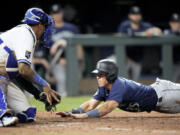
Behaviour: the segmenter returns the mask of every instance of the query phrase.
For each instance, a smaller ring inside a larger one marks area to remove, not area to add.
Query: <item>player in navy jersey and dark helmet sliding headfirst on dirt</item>
[[[62,117],[93,118],[104,116],[115,108],[129,112],[180,113],[180,84],[157,79],[146,86],[118,77],[118,67],[111,60],[97,63],[98,90],[93,98],[72,111],[59,112]],[[98,106],[102,101],[103,105]],[[98,107],[97,107],[98,106]]]

